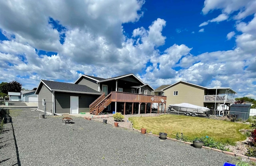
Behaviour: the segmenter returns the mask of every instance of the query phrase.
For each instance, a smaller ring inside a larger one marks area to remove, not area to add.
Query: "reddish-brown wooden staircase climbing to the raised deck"
[[[112,92],[105,97],[105,93],[103,93],[92,104],[90,104],[90,114],[98,115],[102,112],[111,103],[111,94]]]

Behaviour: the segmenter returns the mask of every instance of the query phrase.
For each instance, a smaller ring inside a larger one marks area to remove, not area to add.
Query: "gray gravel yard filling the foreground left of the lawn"
[[[0,165],[12,166],[222,166],[233,156],[115,128],[81,117],[12,118],[0,135]]]

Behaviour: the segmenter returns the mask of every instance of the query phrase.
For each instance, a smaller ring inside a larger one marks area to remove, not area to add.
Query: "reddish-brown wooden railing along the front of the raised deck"
[[[161,103],[161,98],[166,100],[166,96],[152,96],[144,94],[132,94],[126,92],[112,92],[112,102],[143,102]]]

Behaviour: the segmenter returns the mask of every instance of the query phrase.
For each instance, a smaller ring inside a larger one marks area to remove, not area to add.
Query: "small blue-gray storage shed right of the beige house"
[[[229,115],[237,117],[237,119],[241,118],[242,120],[247,120],[250,115],[250,104],[232,104],[230,106]]]

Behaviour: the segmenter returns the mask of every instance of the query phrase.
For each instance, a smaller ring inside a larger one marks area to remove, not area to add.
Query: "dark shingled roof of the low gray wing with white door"
[[[56,81],[48,81],[48,80],[42,80],[42,82],[44,82],[52,90],[66,90],[66,91],[89,92],[89,93],[100,94],[100,92],[86,85],[70,84],[65,82],[56,82]]]

